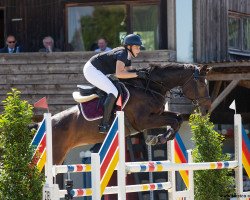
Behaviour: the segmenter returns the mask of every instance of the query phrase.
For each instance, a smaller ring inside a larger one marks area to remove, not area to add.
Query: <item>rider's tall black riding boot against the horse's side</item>
[[[103,104],[103,107],[104,107],[103,118],[102,118],[101,124],[99,125],[100,133],[106,133],[109,130],[109,118],[112,114],[115,101],[116,101],[116,98],[113,94],[110,93],[107,95],[107,98]]]

